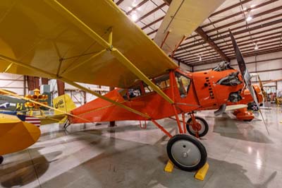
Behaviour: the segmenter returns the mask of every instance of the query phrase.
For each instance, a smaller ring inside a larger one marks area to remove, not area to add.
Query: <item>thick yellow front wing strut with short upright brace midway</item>
[[[56,11],[61,13],[63,16],[65,16],[68,20],[70,20],[73,24],[75,24],[80,30],[82,30],[84,33],[92,37],[93,40],[97,41],[99,45],[102,45],[107,51],[111,52],[118,61],[120,61],[124,66],[126,66],[133,74],[135,74],[138,78],[140,78],[142,81],[147,83],[148,86],[151,86],[154,91],[156,91],[159,95],[161,95],[162,98],[164,98],[169,103],[173,104],[173,100],[168,97],[158,86],[156,86],[152,81],[145,76],[145,74],[142,73],[137,67],[130,62],[129,59],[127,59],[118,49],[116,49],[111,41],[112,41],[112,35],[113,31],[111,29],[111,33],[109,36],[109,42],[104,40],[102,37],[100,37],[97,33],[94,32],[88,25],[82,22],[77,16],[75,16],[71,11],[68,10],[68,8],[64,7],[62,4],[60,4],[56,0],[45,0],[49,6],[54,8]]]

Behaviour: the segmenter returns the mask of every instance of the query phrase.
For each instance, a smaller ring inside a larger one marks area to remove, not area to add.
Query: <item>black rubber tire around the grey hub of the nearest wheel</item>
[[[200,159],[200,162],[195,166],[187,167],[185,165],[181,165],[180,163],[178,163],[178,161],[176,161],[173,158],[173,155],[171,153],[171,148],[173,146],[173,143],[179,140],[183,140],[183,139],[193,143],[200,151],[201,159]],[[199,140],[197,140],[195,137],[189,136],[187,134],[176,134],[175,136],[171,137],[171,139],[169,139],[166,145],[166,152],[168,153],[168,158],[171,160],[171,162],[174,165],[180,168],[180,170],[185,170],[188,172],[199,170],[207,162],[207,151],[206,151],[206,148],[204,148],[204,145],[202,145],[202,143]]]

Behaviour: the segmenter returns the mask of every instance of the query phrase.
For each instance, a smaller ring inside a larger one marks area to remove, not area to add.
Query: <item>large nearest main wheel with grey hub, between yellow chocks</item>
[[[207,162],[207,151],[193,136],[177,134],[169,139],[166,146],[168,158],[181,170],[199,170]]]

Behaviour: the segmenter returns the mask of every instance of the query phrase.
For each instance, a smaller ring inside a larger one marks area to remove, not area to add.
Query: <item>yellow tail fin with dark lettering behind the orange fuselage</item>
[[[61,110],[63,112],[70,112],[71,110],[75,109],[75,102],[71,100],[70,95],[65,94],[61,95],[58,98],[53,99],[54,108]],[[55,114],[63,114],[61,112],[55,111]]]

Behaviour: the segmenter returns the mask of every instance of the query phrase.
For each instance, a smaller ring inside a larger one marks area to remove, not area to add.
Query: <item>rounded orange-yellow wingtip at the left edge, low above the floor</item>
[[[22,122],[13,115],[0,114],[0,127],[0,155],[31,146],[41,134],[34,124]]]

